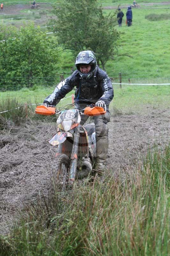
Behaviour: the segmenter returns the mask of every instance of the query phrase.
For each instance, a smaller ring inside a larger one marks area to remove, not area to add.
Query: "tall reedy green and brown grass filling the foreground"
[[[144,156],[134,177],[108,177],[43,199],[0,237],[1,256],[168,256],[170,145]],[[142,165],[141,165],[142,166]]]

